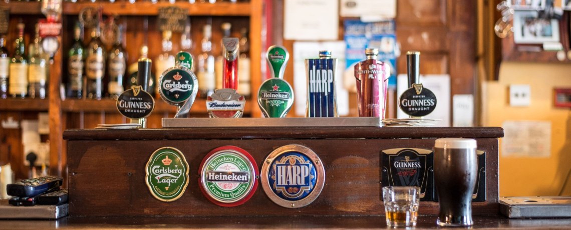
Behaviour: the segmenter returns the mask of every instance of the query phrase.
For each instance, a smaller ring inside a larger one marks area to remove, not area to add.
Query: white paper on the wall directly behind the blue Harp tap
[[[335,75],[335,93],[337,95],[337,113],[349,114],[349,93],[343,88],[343,67],[345,66],[345,42],[294,42],[293,43],[293,93],[295,95],[295,114],[305,116],[307,106],[307,76],[305,59],[319,58],[320,50],[331,51],[331,58],[337,59]]]

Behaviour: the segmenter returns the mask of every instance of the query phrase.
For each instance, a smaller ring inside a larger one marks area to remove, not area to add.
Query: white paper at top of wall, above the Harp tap
[[[284,39],[337,40],[338,3],[332,0],[284,1]]]

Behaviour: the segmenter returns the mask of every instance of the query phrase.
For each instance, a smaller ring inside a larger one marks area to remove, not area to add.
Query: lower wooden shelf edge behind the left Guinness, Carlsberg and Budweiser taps
[[[244,113],[249,114],[251,112],[251,103],[246,103],[246,108],[244,108]],[[1,104],[0,104],[1,105]],[[47,108],[47,105],[46,105]],[[63,112],[117,112],[116,100],[111,98],[104,98],[102,100],[76,100],[67,99],[62,101],[62,111]],[[176,106],[167,104],[166,102],[155,98],[155,110],[153,113],[169,112],[176,113]],[[207,113],[206,111],[206,101],[204,99],[196,98],[192,108],[191,113]]]

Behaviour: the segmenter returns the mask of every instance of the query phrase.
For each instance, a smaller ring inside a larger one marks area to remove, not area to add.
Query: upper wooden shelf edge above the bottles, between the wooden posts
[[[188,15],[212,15],[212,16],[250,16],[250,3],[194,3],[176,2],[174,4],[168,2],[136,2],[134,4],[128,2],[95,2],[95,3],[63,3],[63,14],[79,14],[79,11],[85,7],[102,7],[104,14],[118,15],[157,15],[160,7],[176,6],[182,9],[188,9]]]

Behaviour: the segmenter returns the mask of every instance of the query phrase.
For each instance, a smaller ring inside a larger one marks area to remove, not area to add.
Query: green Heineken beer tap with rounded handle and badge
[[[286,117],[293,105],[293,89],[283,80],[289,53],[282,46],[271,46],[266,58],[273,77],[260,85],[258,105],[265,117]]]

